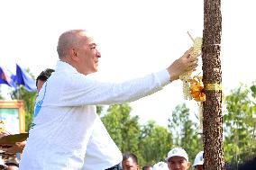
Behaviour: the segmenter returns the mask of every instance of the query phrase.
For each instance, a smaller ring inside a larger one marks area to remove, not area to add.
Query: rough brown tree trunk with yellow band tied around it
[[[224,170],[222,71],[221,71],[221,0],[204,1],[203,140],[206,170]]]

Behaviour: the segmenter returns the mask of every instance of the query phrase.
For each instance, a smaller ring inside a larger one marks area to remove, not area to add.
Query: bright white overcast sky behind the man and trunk
[[[255,4],[254,0],[223,0],[224,94],[256,80]],[[38,76],[45,68],[56,66],[59,35],[85,29],[93,33],[102,54],[94,76],[121,82],[169,67],[193,45],[187,31],[194,38],[202,37],[204,1],[8,0],[0,1],[0,21],[0,67],[14,72],[18,63]],[[199,73],[201,64],[194,74]],[[197,103],[183,99],[182,84],[177,80],[131,103],[132,114],[139,115],[142,123],[153,120],[166,126],[181,103],[187,103],[191,114],[197,113]]]

